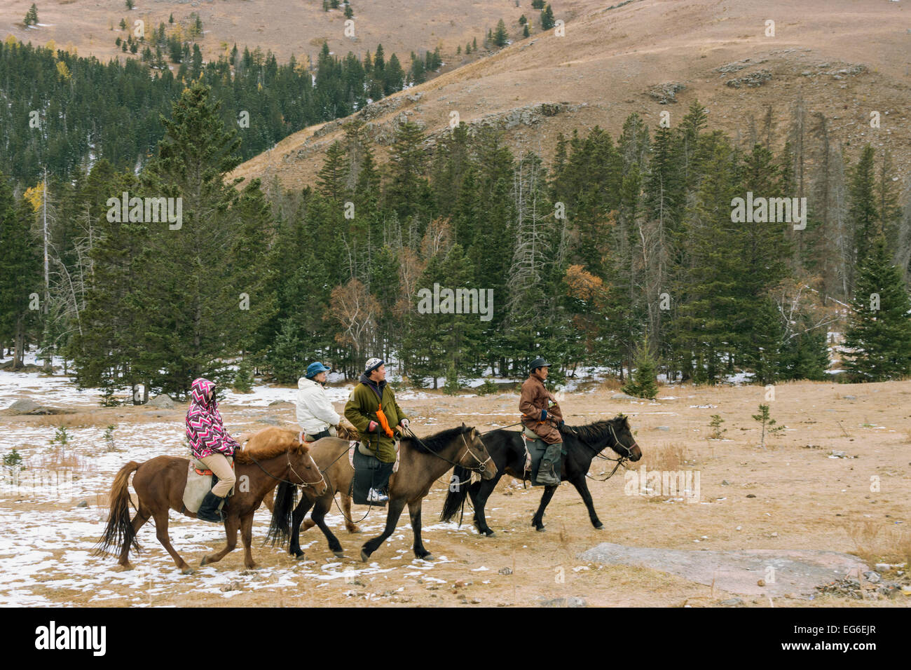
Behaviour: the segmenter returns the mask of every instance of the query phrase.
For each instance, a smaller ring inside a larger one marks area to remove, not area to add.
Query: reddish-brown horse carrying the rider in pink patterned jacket
[[[111,487],[110,515],[107,528],[98,541],[96,554],[108,553],[113,547],[120,551],[120,565],[130,567],[128,553],[130,546],[139,549],[137,532],[150,518],[155,519],[155,530],[162,546],[174,559],[184,574],[193,572],[187,562],[180,558],[171,546],[168,535],[168,510],[183,510],[183,491],[187,484],[189,459],[173,456],[158,456],[144,463],[130,461],[117,473]],[[133,520],[129,519],[128,479],[131,473],[133,488],[138,498],[138,510]],[[316,495],[326,490],[325,479],[310,456],[309,449],[300,441],[299,433],[283,428],[263,428],[254,434],[242,451],[234,453],[234,472],[237,483],[234,495],[225,503],[225,532],[228,543],[224,549],[211,556],[205,556],[200,565],[220,561],[237,546],[237,531],[241,530],[244,549],[244,565],[253,569],[257,565],[251,554],[253,512],[259,508],[262,499],[281,481],[290,481],[312,489]],[[196,514],[183,513],[192,518]]]

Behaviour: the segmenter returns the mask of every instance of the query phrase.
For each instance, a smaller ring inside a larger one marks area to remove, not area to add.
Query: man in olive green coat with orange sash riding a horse
[[[383,359],[367,361],[360,382],[353,388],[344,406],[344,416],[357,428],[361,441],[380,460],[378,480],[367,494],[369,502],[386,502],[384,490],[389,485],[395,463],[395,434],[393,427],[408,427],[408,417],[395,402],[392,387],[386,384],[386,366]]]

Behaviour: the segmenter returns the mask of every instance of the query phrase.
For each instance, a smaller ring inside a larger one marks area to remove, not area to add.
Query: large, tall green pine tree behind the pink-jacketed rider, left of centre
[[[238,262],[243,263],[239,254],[255,255],[264,248],[257,241],[241,250],[238,242],[257,235],[268,240],[267,231],[251,230],[268,225],[268,214],[244,211],[241,194],[225,181],[240,163],[235,152],[241,140],[237,130],[224,128],[219,108],[203,84],[185,89],[171,118],[163,119],[167,134],[143,174],[145,191],[182,199],[179,229],[149,224],[156,253],[148,267],[144,306],[154,316],[144,359],[147,369],[163,371],[156,377],[166,393],[185,393],[198,376],[230,382],[221,359],[241,350],[246,337],[259,330],[261,301],[267,300],[257,284],[241,279],[244,273],[235,276]]]

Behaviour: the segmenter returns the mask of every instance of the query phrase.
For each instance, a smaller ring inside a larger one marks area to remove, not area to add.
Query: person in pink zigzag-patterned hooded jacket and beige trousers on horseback
[[[234,469],[225,457],[233,456],[234,450],[241,448],[241,445],[230,437],[221,422],[219,405],[215,400],[215,385],[212,382],[203,377],[194,379],[190,397],[192,399],[187,410],[189,448],[192,449],[193,456],[219,478],[202,499],[196,518],[220,523],[224,517],[218,510],[219,503],[227,497],[236,479]]]

